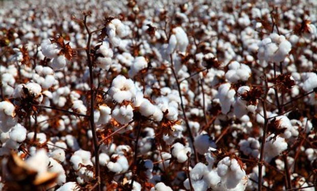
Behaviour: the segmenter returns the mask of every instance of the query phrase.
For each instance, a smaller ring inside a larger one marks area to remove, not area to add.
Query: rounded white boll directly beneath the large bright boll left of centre
[[[117,105],[112,111],[111,116],[121,124],[129,123],[133,118],[133,108],[129,105]]]

